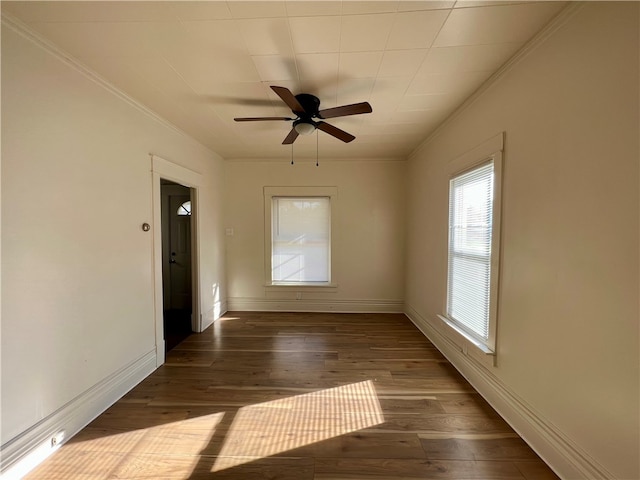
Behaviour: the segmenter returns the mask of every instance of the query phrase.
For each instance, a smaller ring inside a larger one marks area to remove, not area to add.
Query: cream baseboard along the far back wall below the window
[[[403,313],[402,300],[324,300],[229,297],[229,311]]]

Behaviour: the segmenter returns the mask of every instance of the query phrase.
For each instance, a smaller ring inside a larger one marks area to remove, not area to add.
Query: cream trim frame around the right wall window
[[[448,179],[452,179],[462,173],[479,167],[493,160],[494,169],[494,200],[493,200],[493,222],[491,234],[491,283],[489,299],[489,338],[486,342],[467,333],[455,322],[447,318],[447,276],[448,266],[444,276],[444,298],[442,315],[438,315],[441,320],[440,329],[450,340],[460,347],[460,350],[467,354],[471,353],[479,358],[495,357],[497,352],[497,324],[498,324],[498,299],[500,286],[500,237],[501,237],[501,212],[502,212],[502,151],[504,148],[504,132],[487,140],[474,149],[457,157],[448,164]],[[447,211],[449,206],[447,190]],[[448,220],[447,220],[448,225]],[[448,249],[447,242],[447,249]],[[448,253],[447,253],[448,256]],[[444,330],[444,331],[443,331]],[[491,360],[495,363],[495,359]]]

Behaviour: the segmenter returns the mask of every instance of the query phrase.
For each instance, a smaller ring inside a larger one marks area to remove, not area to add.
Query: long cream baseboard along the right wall
[[[511,391],[489,369],[455,348],[451,341],[415,309],[406,305],[405,314],[560,478],[615,478],[577,443]]]

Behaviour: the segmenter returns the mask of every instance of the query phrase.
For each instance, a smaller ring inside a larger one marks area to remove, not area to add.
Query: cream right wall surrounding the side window
[[[638,52],[637,3],[587,3],[408,166],[406,303],[434,325],[447,162],[505,132],[498,363],[476,375],[479,388],[492,396],[500,385],[619,479],[640,477]],[[450,353],[475,375],[477,364]],[[557,458],[553,435],[529,436],[565,478],[581,476]]]

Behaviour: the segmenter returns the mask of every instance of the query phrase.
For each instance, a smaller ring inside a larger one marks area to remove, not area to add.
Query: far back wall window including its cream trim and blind
[[[267,286],[335,286],[331,213],[335,187],[265,187]]]

